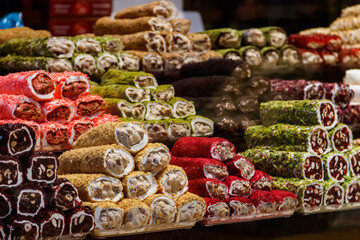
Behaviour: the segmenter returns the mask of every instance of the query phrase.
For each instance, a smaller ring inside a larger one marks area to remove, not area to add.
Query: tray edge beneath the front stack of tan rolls
[[[101,231],[96,229],[91,236],[93,238],[102,239],[107,237],[120,237],[127,235],[135,235],[135,234],[145,234],[145,233],[153,233],[153,232],[164,232],[178,229],[189,229],[192,228],[196,222],[186,222],[186,223],[169,223],[169,224],[160,224],[154,226],[147,226],[144,228],[138,228],[133,230],[125,230],[125,229],[114,229],[108,231]]]

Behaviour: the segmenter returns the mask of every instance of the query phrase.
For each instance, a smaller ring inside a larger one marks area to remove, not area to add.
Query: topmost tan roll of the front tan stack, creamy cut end
[[[138,122],[107,122],[82,134],[75,148],[120,144],[131,153],[143,149],[148,142],[144,126]]]

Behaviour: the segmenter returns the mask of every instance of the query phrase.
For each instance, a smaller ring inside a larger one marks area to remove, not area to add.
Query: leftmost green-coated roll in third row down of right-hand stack
[[[324,179],[321,157],[307,152],[286,152],[271,149],[248,149],[244,157],[249,159],[258,170],[287,178]]]

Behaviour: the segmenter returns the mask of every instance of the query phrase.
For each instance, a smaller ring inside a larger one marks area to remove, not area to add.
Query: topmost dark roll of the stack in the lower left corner
[[[27,157],[35,148],[35,132],[23,123],[0,125],[0,154],[12,157]]]

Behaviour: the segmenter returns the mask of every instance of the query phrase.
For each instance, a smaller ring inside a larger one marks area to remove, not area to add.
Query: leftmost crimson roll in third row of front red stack
[[[189,192],[200,197],[210,197],[224,200],[229,197],[229,190],[220,180],[201,178],[189,180]]]

